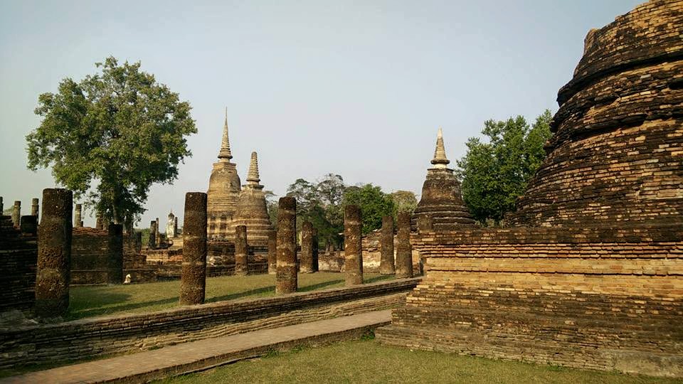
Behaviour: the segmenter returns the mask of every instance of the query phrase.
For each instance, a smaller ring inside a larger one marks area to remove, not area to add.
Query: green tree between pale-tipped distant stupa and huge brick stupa
[[[546,156],[544,143],[551,137],[551,112],[545,110],[529,127],[524,117],[488,120],[482,134],[487,141],[471,137],[467,153],[457,161],[462,198],[482,224],[496,225],[524,193],[526,183]]]

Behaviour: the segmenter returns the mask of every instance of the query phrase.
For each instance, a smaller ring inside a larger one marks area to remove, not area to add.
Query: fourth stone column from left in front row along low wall
[[[361,208],[344,207],[344,279],[346,285],[363,284]]]

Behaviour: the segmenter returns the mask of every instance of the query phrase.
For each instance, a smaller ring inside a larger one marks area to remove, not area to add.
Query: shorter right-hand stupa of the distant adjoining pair
[[[232,223],[228,239],[235,238],[235,227],[246,225],[247,243],[254,245],[268,245],[268,233],[273,229],[268,216],[268,208],[265,203],[265,194],[261,179],[258,176],[258,156],[256,152],[251,153],[247,183],[243,186],[242,192],[237,202],[237,208]]]

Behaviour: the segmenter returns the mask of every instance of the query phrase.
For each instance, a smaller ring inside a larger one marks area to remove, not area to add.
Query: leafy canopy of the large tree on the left
[[[55,181],[87,194],[107,220],[131,225],[144,212],[152,183],[171,183],[191,156],[197,132],[188,102],[144,73],[140,63],[96,63],[101,73],[65,78],[38,97],[40,127],[28,134],[28,169],[52,166]]]

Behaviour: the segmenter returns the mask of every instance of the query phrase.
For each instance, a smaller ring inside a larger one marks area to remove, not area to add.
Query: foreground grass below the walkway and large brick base
[[[295,348],[161,383],[681,383],[645,376],[411,351],[378,341]]]

